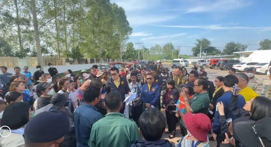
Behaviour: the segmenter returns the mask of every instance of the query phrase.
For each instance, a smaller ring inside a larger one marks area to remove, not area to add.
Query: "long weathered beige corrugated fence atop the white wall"
[[[23,67],[36,67],[38,65],[37,57],[25,57],[20,59],[18,57],[0,57],[0,66],[6,66],[7,68],[14,68],[16,66]],[[123,62],[131,62],[137,60],[122,60]],[[110,63],[121,62],[120,59],[92,59],[92,58],[51,58],[43,57],[43,66],[47,66],[49,63],[54,66],[63,65],[76,65],[76,64],[98,64],[98,63]]]

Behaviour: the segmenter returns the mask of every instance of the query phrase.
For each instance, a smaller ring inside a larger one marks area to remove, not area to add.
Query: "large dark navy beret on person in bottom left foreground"
[[[51,142],[67,134],[69,128],[70,121],[64,111],[44,111],[25,125],[23,137],[36,143]]]

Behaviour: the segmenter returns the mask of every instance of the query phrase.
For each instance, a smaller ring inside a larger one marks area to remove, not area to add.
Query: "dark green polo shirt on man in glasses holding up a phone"
[[[208,92],[195,94],[190,100],[189,104],[191,107],[192,113],[204,113],[207,114],[210,98]],[[186,114],[186,109],[183,110],[183,114]],[[180,123],[185,127],[183,118],[180,119]]]

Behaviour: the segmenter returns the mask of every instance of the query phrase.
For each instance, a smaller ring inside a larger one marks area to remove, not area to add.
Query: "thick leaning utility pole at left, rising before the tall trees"
[[[38,58],[38,65],[41,66],[41,70],[43,69],[43,58],[41,54],[41,47],[40,47],[40,34],[38,31],[38,20],[37,20],[37,12],[36,12],[36,3],[35,0],[31,0],[32,5],[32,14],[33,14],[33,23],[34,23],[34,32],[36,34],[36,50],[37,50],[37,58]]]

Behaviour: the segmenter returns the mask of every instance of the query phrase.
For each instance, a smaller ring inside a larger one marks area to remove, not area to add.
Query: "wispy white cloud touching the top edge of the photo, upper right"
[[[216,2],[204,1],[204,3],[199,3],[197,6],[187,9],[186,13],[225,12],[249,5],[251,5],[251,2],[247,0],[218,0]]]

